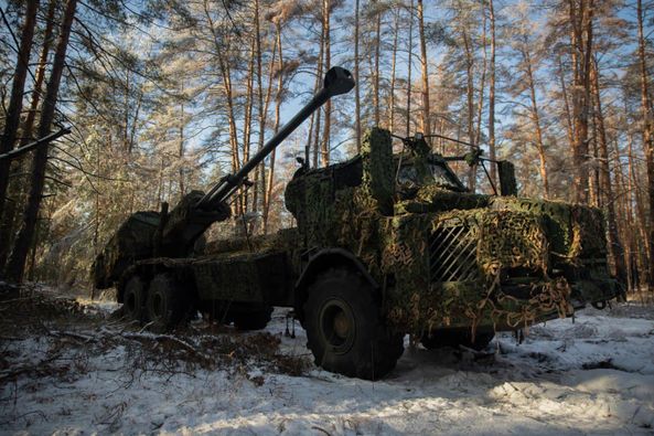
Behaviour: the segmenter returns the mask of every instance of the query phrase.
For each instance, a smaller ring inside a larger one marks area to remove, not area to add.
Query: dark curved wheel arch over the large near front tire
[[[379,285],[358,257],[345,248],[323,248],[311,256],[294,285],[294,308],[300,321],[304,320],[302,308],[309,296],[309,286],[320,273],[333,267],[346,267],[360,273],[364,280],[371,285],[374,296],[379,296]]]

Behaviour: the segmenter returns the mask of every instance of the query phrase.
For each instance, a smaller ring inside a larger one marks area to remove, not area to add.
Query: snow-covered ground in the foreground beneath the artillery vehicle
[[[97,340],[125,331],[111,320],[71,332],[50,325],[47,334],[0,332],[0,433],[654,433],[652,308],[587,309],[575,321],[533,327],[522,344],[501,334],[485,353],[407,343],[396,370],[377,382],[313,366],[300,327],[296,338],[283,334],[285,315],[276,310],[267,331],[279,338],[282,355],[308,362],[301,376],[256,360],[214,370],[172,359],[137,365],[147,354]],[[11,380],[3,376],[12,371]]]

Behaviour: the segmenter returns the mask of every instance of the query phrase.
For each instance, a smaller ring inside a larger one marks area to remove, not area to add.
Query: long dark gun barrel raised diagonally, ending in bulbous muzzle
[[[354,87],[352,74],[340,66],[334,66],[324,76],[323,88],[318,92],[296,116],[288,121],[266,145],[235,174],[221,179],[195,205],[202,210],[211,210],[227,200],[244,183],[247,174],[261,163],[270,152],[277,148],[290,134],[293,132],[307,118],[331,97],[349,93]]]

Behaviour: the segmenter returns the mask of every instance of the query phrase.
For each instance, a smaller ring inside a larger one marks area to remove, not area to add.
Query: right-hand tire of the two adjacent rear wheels
[[[152,331],[172,330],[186,318],[189,306],[183,289],[172,275],[158,274],[150,281],[146,307]]]

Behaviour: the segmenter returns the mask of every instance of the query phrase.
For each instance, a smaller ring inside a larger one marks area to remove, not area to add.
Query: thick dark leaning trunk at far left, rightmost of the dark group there
[[[41,121],[39,124],[39,137],[44,137],[50,134],[50,128],[54,119],[54,111],[56,108],[56,100],[60,91],[60,83],[62,73],[64,71],[64,63],[66,60],[66,50],[68,49],[68,38],[71,35],[71,26],[75,17],[75,8],[77,0],[68,0],[65,6],[64,15],[62,19],[62,26],[60,38],[55,50],[52,72],[47,83],[45,99],[43,102],[43,111],[41,114]],[[7,277],[10,280],[20,283],[23,277],[25,258],[30,248],[30,243],[34,236],[34,228],[39,217],[39,209],[41,208],[41,200],[43,195],[43,185],[45,181],[45,167],[47,163],[47,147],[40,147],[34,152],[32,162],[32,183],[28,206],[25,208],[23,216],[23,225],[19,231],[15,240],[13,252],[7,265]]]

